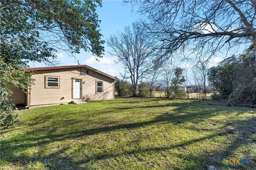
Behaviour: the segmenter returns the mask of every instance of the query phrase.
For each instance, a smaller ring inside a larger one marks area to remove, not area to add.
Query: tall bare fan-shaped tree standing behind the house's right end
[[[154,44],[139,23],[133,23],[132,27],[125,27],[124,32],[118,36],[110,36],[107,41],[112,48],[111,55],[117,57],[133,86],[133,96],[138,94],[138,82],[153,69]]]

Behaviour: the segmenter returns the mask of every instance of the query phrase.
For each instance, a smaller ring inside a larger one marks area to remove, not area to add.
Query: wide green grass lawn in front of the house
[[[2,169],[255,169],[255,109],[119,98],[20,111]],[[223,165],[223,158],[250,159]]]

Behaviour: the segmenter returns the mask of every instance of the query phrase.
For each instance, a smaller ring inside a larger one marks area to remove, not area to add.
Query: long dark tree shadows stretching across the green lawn
[[[151,100],[155,101],[155,100]],[[158,100],[156,100],[158,101]],[[138,103],[138,101],[136,101]],[[145,101],[143,101],[145,102]],[[130,102],[129,102],[130,103]],[[123,110],[129,110],[129,109],[135,109],[135,108],[160,108],[160,107],[173,107],[171,112],[164,112],[161,115],[157,115],[154,119],[149,120],[149,121],[142,121],[142,122],[132,122],[132,123],[125,123],[125,124],[118,124],[118,122],[114,121],[114,125],[111,124],[111,126],[100,126],[97,128],[90,128],[90,129],[84,129],[84,130],[74,130],[71,132],[63,132],[61,134],[55,134],[55,131],[58,128],[63,128],[65,126],[69,125],[74,125],[76,123],[82,123],[84,120],[63,120],[59,124],[54,124],[54,116],[47,115],[45,117],[38,116],[34,120],[31,120],[28,125],[35,125],[35,124],[40,124],[44,123],[47,121],[53,121],[53,124],[50,127],[48,126],[41,126],[40,128],[35,128],[28,130],[24,134],[20,135],[20,137],[15,138],[11,137],[9,140],[3,140],[1,142],[3,152],[7,152],[8,155],[2,155],[2,159],[5,160],[6,162],[10,162],[13,164],[21,164],[23,166],[26,166],[29,162],[36,162],[36,161],[41,161],[44,162],[45,159],[51,159],[54,158],[50,163],[45,163],[49,168],[54,168],[54,169],[63,169],[63,168],[68,168],[71,167],[72,169],[84,169],[86,167],[81,167],[81,164],[90,162],[92,160],[103,160],[103,159],[108,159],[108,158],[114,158],[118,157],[121,155],[127,156],[127,155],[135,155],[135,154],[143,154],[145,152],[161,152],[164,150],[168,149],[173,149],[173,148],[179,148],[179,147],[185,147],[190,145],[191,143],[195,142],[202,142],[206,139],[213,139],[214,137],[218,137],[220,135],[229,135],[227,131],[219,131],[211,135],[206,135],[205,137],[189,140],[186,142],[181,142],[177,145],[170,145],[170,146],[159,146],[159,147],[148,147],[148,148],[142,148],[142,149],[131,149],[129,151],[123,151],[123,152],[117,152],[117,153],[100,153],[100,154],[93,154],[81,162],[76,162],[74,161],[71,157],[69,156],[61,156],[63,153],[65,153],[69,147],[63,147],[57,151],[54,151],[52,154],[49,154],[47,156],[43,156],[41,154],[38,154],[37,156],[27,156],[27,155],[20,155],[17,156],[15,152],[19,151],[20,148],[23,150],[26,150],[31,147],[36,147],[36,146],[44,146],[52,142],[56,141],[64,141],[64,140],[72,140],[72,139],[77,139],[81,137],[86,137],[89,135],[94,135],[98,133],[107,133],[110,131],[115,131],[115,130],[120,130],[120,129],[138,129],[142,128],[148,125],[153,125],[153,124],[166,124],[166,123],[172,123],[172,124],[180,124],[180,123],[186,123],[186,122],[193,122],[193,123],[198,123],[202,119],[207,119],[211,118],[214,115],[218,113],[218,109],[211,107],[212,109],[204,109],[204,108],[197,108],[195,110],[195,106],[200,106],[201,104],[198,104],[197,101],[190,101],[189,103],[167,103],[167,104],[158,104],[155,103],[154,105],[149,105],[149,106],[131,106],[131,107],[119,107],[116,106],[115,110],[117,111],[123,111]],[[113,108],[112,108],[113,109]],[[103,113],[106,114],[108,112],[113,112],[111,111],[104,111]],[[188,112],[190,111],[191,112]],[[224,110],[225,108],[222,107]],[[186,111],[186,112],[183,112]],[[75,112],[74,112],[75,113]],[[74,114],[74,113],[71,113]],[[228,113],[227,113],[228,114]],[[40,118],[41,117],[41,118]],[[255,124],[256,118],[252,118],[250,121],[253,125]],[[246,146],[250,145],[250,141],[246,139],[250,139],[252,137],[252,133],[243,133],[241,130],[245,127],[242,125],[248,123],[244,122],[244,120],[239,120],[236,122],[231,122],[231,124],[235,124],[236,126],[233,129],[234,131],[241,132],[239,134],[236,134],[235,137],[230,139],[230,144],[229,146],[225,147],[225,149],[222,150],[217,150],[214,152],[215,155],[219,155],[222,158],[227,157],[229,154],[233,153],[236,151],[236,149],[239,146]],[[87,126],[90,126],[88,124],[85,124]],[[227,123],[223,123],[223,129],[227,128],[230,125]],[[252,126],[253,127],[253,126]],[[251,127],[249,127],[250,130]],[[194,129],[198,131],[202,131],[202,129]],[[40,132],[44,132],[44,135],[38,136],[38,137],[31,137],[33,134],[41,134]],[[46,132],[46,133],[45,133]],[[231,134],[232,135],[232,134]],[[83,146],[80,146],[82,148]],[[79,148],[78,148],[79,149]],[[198,162],[205,162],[205,155],[196,155],[194,159],[198,160]],[[181,157],[181,155],[179,156]],[[182,158],[182,159],[187,159],[187,158]],[[61,161],[60,161],[61,160]],[[65,163],[64,163],[65,162]],[[66,167],[67,166],[67,167]],[[196,166],[196,165],[195,165]],[[191,168],[191,167],[190,167]]]

